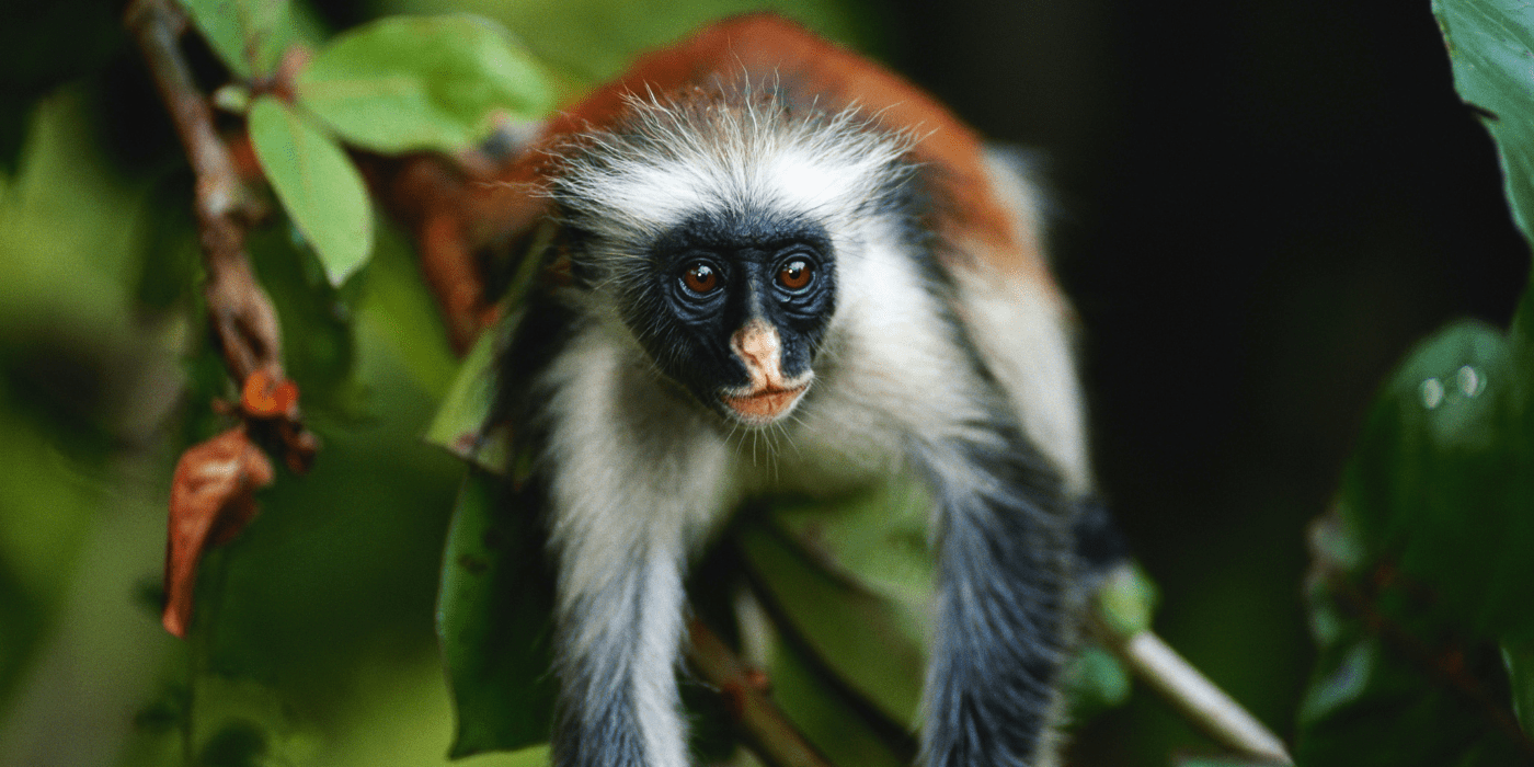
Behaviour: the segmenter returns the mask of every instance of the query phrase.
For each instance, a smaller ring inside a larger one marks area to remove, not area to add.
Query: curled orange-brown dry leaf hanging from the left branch
[[[235,426],[181,454],[170,485],[170,540],[166,548],[166,609],[161,623],[186,637],[198,563],[256,515],[255,491],[272,483],[272,462]]]

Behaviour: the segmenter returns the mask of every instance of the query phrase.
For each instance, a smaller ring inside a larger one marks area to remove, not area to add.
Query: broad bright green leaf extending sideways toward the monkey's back
[[[299,103],[376,152],[457,152],[552,106],[532,57],[489,21],[391,17],[336,37],[298,77]]]

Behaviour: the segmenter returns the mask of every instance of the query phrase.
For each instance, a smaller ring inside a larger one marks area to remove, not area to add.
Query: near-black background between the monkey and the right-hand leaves
[[[1528,252],[1428,3],[897,3],[897,66],[1043,147],[1101,485],[1158,629],[1281,735],[1305,523],[1371,393],[1445,321],[1506,325]],[[1183,741],[1137,696],[1077,738]],[[1140,746],[1137,746],[1138,749]],[[1144,753],[1144,752],[1138,752]]]

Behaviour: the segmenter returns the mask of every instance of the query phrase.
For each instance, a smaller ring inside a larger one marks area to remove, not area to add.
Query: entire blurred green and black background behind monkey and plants
[[[1427,0],[767,6],[1037,150],[1101,486],[1161,586],[1157,627],[1289,735],[1312,661],[1304,531],[1371,393],[1445,321],[1505,325],[1528,270]],[[577,87],[762,6],[310,8],[331,31],[483,14]],[[222,371],[193,313],[192,176],[120,12],[0,9],[0,765],[181,764],[193,672],[227,680],[216,716],[278,733],[290,762],[440,764],[431,614],[460,469],[419,436],[454,360],[397,233],[318,305],[311,261],[258,236],[279,313],[310,328],[290,373],[325,448],[210,558],[216,647],[160,627],[170,469],[209,436]],[[250,753],[221,732],[210,761]],[[1080,765],[1209,749],[1144,692],[1074,741]]]

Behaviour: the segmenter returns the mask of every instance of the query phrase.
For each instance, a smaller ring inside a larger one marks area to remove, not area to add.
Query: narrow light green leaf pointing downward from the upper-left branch
[[[373,207],[362,173],[328,135],[273,97],[250,107],[250,143],[278,199],[341,285],[373,250]]]

